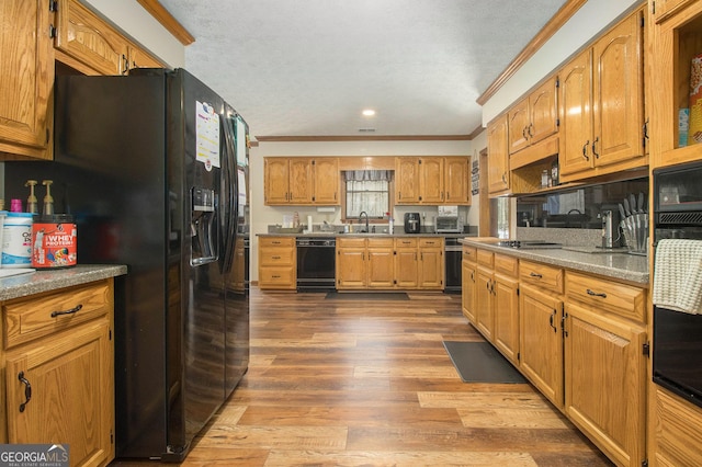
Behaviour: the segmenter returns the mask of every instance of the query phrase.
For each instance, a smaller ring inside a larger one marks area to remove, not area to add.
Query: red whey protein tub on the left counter
[[[68,214],[34,216],[32,266],[36,269],[75,266],[77,234],[73,218]]]

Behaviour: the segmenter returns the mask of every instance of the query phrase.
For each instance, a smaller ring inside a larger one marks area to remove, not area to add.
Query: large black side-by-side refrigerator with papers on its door
[[[53,180],[78,263],[127,265],[116,456],[180,462],[248,368],[248,127],[185,70],[141,69],[57,76],[54,140],[54,161],[5,164],[5,196]]]

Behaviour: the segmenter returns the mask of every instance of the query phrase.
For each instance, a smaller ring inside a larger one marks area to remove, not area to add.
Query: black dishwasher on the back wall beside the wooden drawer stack
[[[297,292],[325,292],[336,288],[336,246],[331,238],[298,237]]]

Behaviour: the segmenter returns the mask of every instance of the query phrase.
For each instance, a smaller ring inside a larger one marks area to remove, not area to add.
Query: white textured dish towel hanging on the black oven
[[[654,264],[654,305],[702,314],[702,240],[660,240]]]

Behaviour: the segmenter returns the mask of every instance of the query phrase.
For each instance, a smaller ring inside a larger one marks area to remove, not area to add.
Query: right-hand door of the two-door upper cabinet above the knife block
[[[639,21],[639,14],[631,15],[592,46],[592,152],[598,167],[644,156]]]

